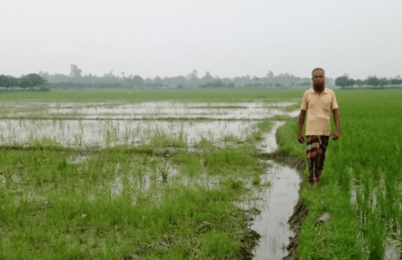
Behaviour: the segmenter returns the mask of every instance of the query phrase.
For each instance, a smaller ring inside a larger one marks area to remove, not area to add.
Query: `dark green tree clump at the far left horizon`
[[[13,87],[19,87],[21,89],[42,87],[42,90],[46,89],[47,81],[37,73],[30,73],[20,78],[13,76],[0,75],[0,87],[10,89]]]

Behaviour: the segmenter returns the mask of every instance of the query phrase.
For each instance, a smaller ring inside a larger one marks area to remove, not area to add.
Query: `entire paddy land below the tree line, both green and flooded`
[[[305,90],[0,93],[0,259],[398,259],[402,91],[335,90],[311,189]]]

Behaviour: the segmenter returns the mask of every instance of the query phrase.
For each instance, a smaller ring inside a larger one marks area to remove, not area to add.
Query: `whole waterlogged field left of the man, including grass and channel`
[[[269,119],[297,115],[295,103],[19,102],[3,107],[0,200],[7,225],[0,225],[5,238],[0,250],[7,253],[0,258],[12,252],[24,256],[17,248],[29,252],[34,244],[40,248],[33,250],[34,259],[42,252],[47,259],[286,256],[299,174],[253,154],[277,149],[275,134],[285,121]],[[255,216],[244,225],[244,212],[250,210]],[[26,225],[35,228],[31,232]],[[133,227],[134,233],[126,232]],[[43,242],[50,236],[58,239]],[[30,239],[12,243],[21,237]],[[105,241],[110,245],[100,250]]]

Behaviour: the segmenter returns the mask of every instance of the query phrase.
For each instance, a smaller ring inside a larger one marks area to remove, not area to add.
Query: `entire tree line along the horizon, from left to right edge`
[[[47,72],[40,71],[39,74],[30,73],[26,76],[16,78],[13,76],[0,75],[0,87],[12,88],[18,87],[22,89],[38,88],[49,89],[118,89],[118,88],[287,88],[287,87],[308,87],[311,86],[311,78],[299,78],[289,73],[281,73],[274,76],[272,71],[268,71],[262,78],[250,75],[235,78],[220,78],[212,76],[209,71],[204,76],[199,77],[198,71],[195,69],[187,76],[164,77],[155,76],[154,78],[142,78],[139,75],[121,76],[114,75],[113,71],[105,73],[103,76],[89,75],[82,76],[82,69],[76,64],[70,65],[70,74],[64,75],[55,73],[50,75]],[[385,87],[402,85],[401,76],[395,78],[377,78],[369,76],[365,80],[353,80],[347,74],[333,80],[326,78],[326,85],[347,87]]]

